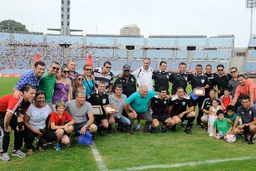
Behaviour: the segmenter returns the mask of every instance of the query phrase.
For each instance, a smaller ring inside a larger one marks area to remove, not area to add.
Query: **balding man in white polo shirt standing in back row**
[[[153,75],[153,69],[150,67],[149,58],[144,58],[143,66],[133,71],[131,74],[135,76],[139,86],[146,85],[148,90],[153,90],[153,80],[151,79]]]

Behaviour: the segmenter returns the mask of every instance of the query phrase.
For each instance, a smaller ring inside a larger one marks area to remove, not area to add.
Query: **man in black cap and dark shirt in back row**
[[[116,89],[116,85],[123,86],[123,94],[126,97],[129,97],[131,94],[136,92],[136,79],[135,76],[130,74],[130,66],[124,65],[123,66],[123,75],[121,77],[117,77],[116,81],[113,85],[112,91]]]

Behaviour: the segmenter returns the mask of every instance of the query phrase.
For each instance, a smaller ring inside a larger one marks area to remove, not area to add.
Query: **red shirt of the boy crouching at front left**
[[[65,125],[66,120],[68,120],[68,122],[73,120],[72,116],[69,115],[66,111],[63,112],[62,118],[60,118],[56,111],[53,111],[50,116],[50,123],[55,123],[57,126]]]

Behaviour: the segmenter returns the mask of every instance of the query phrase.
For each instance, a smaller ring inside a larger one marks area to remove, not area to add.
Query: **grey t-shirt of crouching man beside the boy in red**
[[[92,112],[91,104],[85,101],[84,105],[80,108],[76,106],[76,100],[69,100],[66,102],[65,109],[68,109],[69,114],[73,117],[75,124],[80,124],[83,121],[87,121],[87,114]]]

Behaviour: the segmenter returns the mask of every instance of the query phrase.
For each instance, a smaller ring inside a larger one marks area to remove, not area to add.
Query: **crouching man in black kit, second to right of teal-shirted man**
[[[189,108],[188,110],[187,107]],[[183,87],[179,86],[176,95],[171,98],[170,109],[170,117],[175,121],[175,125],[172,126],[172,131],[177,131],[176,125],[179,125],[181,120],[188,120],[184,131],[186,134],[192,134],[190,128],[192,127],[195,118],[194,107],[191,104],[190,97],[185,96]]]

